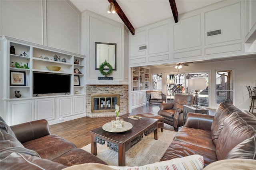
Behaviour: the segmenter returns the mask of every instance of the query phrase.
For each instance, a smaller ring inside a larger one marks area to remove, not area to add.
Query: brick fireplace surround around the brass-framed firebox
[[[115,112],[92,113],[92,94],[119,94],[119,115],[128,114],[128,85],[86,85],[86,117],[116,117]]]

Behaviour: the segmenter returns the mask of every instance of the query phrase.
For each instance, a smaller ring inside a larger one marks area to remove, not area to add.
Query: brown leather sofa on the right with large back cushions
[[[214,116],[188,113],[160,161],[192,154],[204,166],[217,160],[256,159],[256,117],[232,104],[220,103]]]

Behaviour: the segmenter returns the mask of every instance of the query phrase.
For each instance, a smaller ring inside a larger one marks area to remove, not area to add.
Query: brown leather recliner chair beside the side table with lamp
[[[194,104],[193,95],[175,94],[173,103],[160,103],[158,115],[164,117],[164,123],[174,127],[178,131],[183,126],[183,107],[182,105]]]

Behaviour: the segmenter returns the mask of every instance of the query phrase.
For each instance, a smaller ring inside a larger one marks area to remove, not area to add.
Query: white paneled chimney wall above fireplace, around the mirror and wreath
[[[103,75],[100,74],[99,70],[95,70],[94,66],[95,42],[116,43],[116,70],[112,71],[110,76],[113,77],[112,82],[128,84],[128,79],[124,78],[124,75],[128,75],[128,69],[123,69],[128,66],[124,65],[128,64],[124,62],[127,54],[124,52],[124,41],[128,41],[127,38],[124,38],[124,25],[93,12],[85,11],[82,13],[82,26],[84,32],[82,44],[86,44],[83,51],[90,56],[86,58],[88,66],[86,68],[88,73],[86,75],[86,84],[102,84],[102,81],[98,81],[98,77],[103,77]],[[108,82],[104,81],[104,83]]]

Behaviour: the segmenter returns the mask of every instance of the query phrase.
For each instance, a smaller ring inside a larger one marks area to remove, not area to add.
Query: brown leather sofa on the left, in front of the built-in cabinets
[[[0,117],[0,169],[60,170],[89,162],[106,164],[93,154],[50,134],[46,120],[9,127]]]

